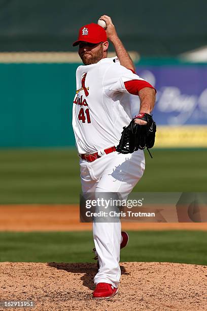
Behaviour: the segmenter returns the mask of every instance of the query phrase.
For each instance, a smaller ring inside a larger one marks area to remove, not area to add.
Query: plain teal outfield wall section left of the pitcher
[[[0,146],[74,146],[76,64],[0,64]]]

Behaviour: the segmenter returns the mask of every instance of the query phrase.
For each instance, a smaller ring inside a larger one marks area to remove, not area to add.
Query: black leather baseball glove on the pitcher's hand
[[[134,122],[134,119],[141,119],[147,121],[146,125],[139,125]],[[123,127],[121,139],[116,147],[119,153],[132,153],[138,149],[145,149],[149,151],[155,143],[156,123],[152,116],[148,113],[140,113],[136,115],[128,127]],[[150,153],[150,151],[149,151]],[[150,153],[152,158],[152,155]]]

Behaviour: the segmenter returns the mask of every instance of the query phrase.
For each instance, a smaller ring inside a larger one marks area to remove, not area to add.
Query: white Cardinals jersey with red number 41
[[[121,66],[117,57],[77,68],[73,129],[80,154],[118,145],[132,118],[124,86],[130,80],[143,79]]]

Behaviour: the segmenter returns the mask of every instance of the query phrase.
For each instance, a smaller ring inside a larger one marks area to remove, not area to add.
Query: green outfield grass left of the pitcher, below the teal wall
[[[81,190],[75,149],[0,152],[0,203],[78,203]]]

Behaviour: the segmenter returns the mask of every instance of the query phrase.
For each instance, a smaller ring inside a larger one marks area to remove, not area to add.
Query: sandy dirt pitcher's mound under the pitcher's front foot
[[[124,262],[120,266],[118,294],[94,300],[95,264],[3,262],[1,300],[33,300],[36,307],[31,310],[38,311],[207,310],[207,266],[157,262]]]

